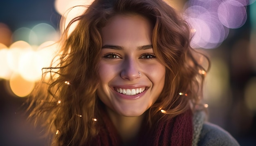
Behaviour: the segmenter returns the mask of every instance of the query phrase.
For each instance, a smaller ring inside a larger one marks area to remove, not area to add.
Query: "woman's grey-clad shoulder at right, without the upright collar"
[[[221,127],[205,122],[202,125],[198,146],[239,146],[239,144]]]

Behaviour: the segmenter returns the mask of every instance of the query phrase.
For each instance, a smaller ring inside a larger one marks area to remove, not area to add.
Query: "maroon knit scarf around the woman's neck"
[[[163,117],[164,118],[164,117]],[[153,126],[141,128],[137,146],[191,146],[193,127],[192,112],[188,110],[173,119],[164,119]],[[121,138],[107,114],[103,114],[104,125],[91,146],[121,146]],[[143,124],[145,125],[145,124]]]

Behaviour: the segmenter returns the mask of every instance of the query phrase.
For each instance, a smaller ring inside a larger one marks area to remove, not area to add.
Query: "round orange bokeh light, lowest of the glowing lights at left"
[[[34,82],[27,81],[18,74],[13,74],[9,82],[11,91],[19,97],[29,95],[35,86]]]

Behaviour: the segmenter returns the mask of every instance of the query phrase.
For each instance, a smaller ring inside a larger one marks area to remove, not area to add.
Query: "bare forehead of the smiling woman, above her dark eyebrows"
[[[115,15],[102,28],[102,43],[103,45],[122,45],[131,42],[148,44],[152,41],[152,31],[153,25],[142,15]]]

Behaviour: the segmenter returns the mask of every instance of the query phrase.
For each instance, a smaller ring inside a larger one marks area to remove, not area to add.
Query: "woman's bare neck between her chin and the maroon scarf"
[[[108,115],[117,129],[124,145],[135,145],[141,128],[144,114],[138,117],[121,116],[111,109],[107,109]]]

